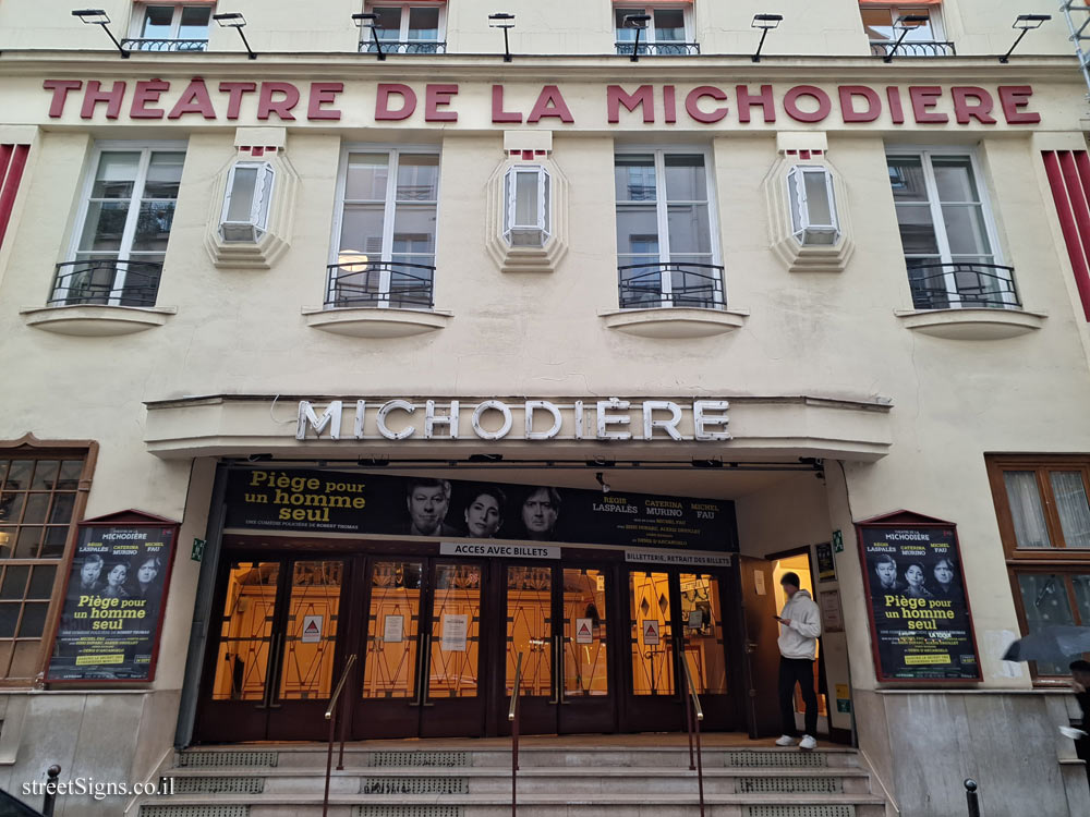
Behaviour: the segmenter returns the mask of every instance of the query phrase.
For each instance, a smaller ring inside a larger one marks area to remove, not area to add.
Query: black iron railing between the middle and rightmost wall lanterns
[[[620,308],[689,306],[725,309],[723,267],[714,264],[630,264],[617,268]],[[664,292],[664,279],[669,292]]]

